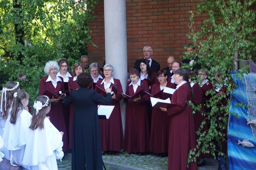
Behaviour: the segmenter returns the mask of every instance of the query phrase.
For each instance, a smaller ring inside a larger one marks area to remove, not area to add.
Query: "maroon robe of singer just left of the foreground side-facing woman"
[[[167,82],[166,87],[171,88],[171,83]],[[161,91],[160,83],[155,83],[151,90],[151,95]],[[167,153],[170,130],[170,116],[162,112],[160,108],[152,111],[151,133],[150,133],[150,152]]]

